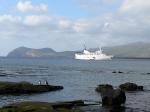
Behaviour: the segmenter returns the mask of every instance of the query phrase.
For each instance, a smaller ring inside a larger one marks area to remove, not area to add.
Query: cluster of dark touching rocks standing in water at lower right
[[[126,102],[126,92],[144,91],[143,88],[143,86],[127,82],[117,88],[110,84],[101,84],[95,90],[101,95],[102,106],[120,107]]]

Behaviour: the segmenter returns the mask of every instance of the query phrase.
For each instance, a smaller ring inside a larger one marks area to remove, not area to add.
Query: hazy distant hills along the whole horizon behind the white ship
[[[150,58],[150,43],[131,43],[120,46],[103,47],[104,53],[114,55],[115,58]],[[90,49],[91,51],[97,48]],[[56,52],[51,48],[32,49],[19,47],[11,51],[7,57],[13,58],[50,58],[67,57],[74,58],[74,54],[80,51]]]

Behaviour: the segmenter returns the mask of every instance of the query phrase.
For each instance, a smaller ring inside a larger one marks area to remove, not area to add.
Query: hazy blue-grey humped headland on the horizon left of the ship
[[[19,47],[8,53],[7,57],[11,58],[39,58],[49,57],[56,54],[51,48],[32,49],[26,47]]]

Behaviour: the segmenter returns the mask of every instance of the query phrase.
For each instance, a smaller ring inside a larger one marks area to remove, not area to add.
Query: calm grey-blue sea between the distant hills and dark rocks
[[[113,71],[122,71],[114,74]],[[150,60],[113,59],[111,61],[81,61],[74,59],[0,59],[1,81],[29,81],[38,84],[47,80],[62,85],[64,90],[34,95],[0,96],[0,106],[16,101],[101,101],[95,92],[99,84],[117,87],[125,82],[143,85],[146,91],[127,93],[126,107],[150,111]]]

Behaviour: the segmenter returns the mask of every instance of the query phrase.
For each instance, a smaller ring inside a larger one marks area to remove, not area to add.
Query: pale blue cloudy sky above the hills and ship
[[[0,0],[0,55],[150,41],[150,0]]]

